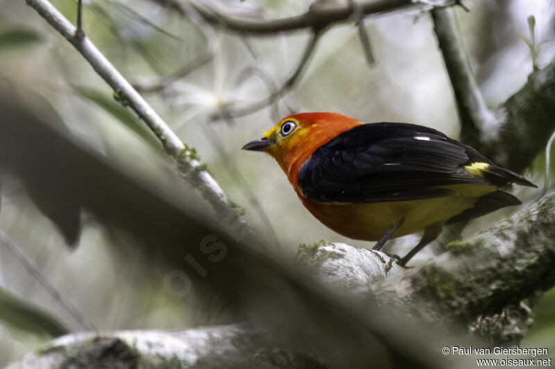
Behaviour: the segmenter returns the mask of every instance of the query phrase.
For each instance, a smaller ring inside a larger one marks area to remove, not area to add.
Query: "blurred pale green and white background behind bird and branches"
[[[456,17],[481,91],[488,106],[495,108],[518,91],[532,71],[530,49],[522,39],[529,37],[529,15],[536,18],[536,43],[542,45],[539,66],[555,57],[555,3],[466,2],[470,12],[456,8]],[[52,3],[75,21],[76,1]],[[311,5],[305,0],[200,3],[246,19],[296,15]],[[338,111],[364,122],[417,123],[458,137],[450,81],[426,12],[399,11],[365,19],[373,66],[355,25],[333,26],[282,98],[251,114],[233,116],[284,84],[296,70],[311,30],[233,33],[206,24],[196,12],[183,15],[155,0],[90,0],[84,5],[87,36],[144,91],[178,136],[196,148],[230,199],[244,208],[248,222],[268,240],[268,248],[285,258],[293,258],[299,244],[322,239],[373,245],[325,228],[302,207],[269,156],[240,150],[278,119],[297,111]],[[0,84],[30,105],[60,116],[72,134],[121,168],[152,181],[174,183],[173,163],[73,46],[24,1],[0,0],[0,6]],[[195,61],[198,65],[182,73],[184,77],[172,78]],[[527,173],[538,185],[543,183],[544,155]],[[67,247],[22,184],[0,175],[0,366],[51,339],[24,314],[2,314],[9,311],[6,301],[31,304],[72,332],[174,329],[200,322],[198,313],[187,308],[191,302],[164,285],[168,271],[144,260],[131,242],[117,240],[125,246],[114,248],[113,237],[83,215],[80,241]],[[183,187],[183,196],[202,208],[196,191]],[[539,192],[516,189],[515,195],[533,201]],[[504,211],[477,219],[465,234],[487,228],[514,209]],[[418,235],[395,240],[390,251],[399,252],[416,240]],[[432,250],[419,254],[416,262]],[[554,291],[543,297],[535,312],[536,322],[522,346],[555,352]]]

